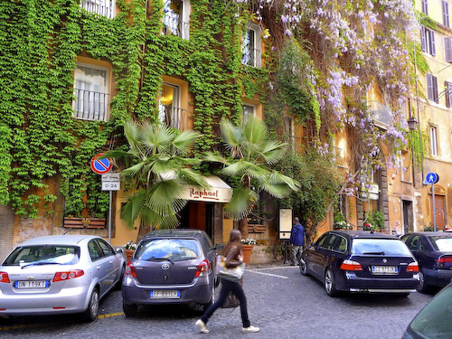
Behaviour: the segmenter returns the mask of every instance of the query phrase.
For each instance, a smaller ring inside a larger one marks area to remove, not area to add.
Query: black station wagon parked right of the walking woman
[[[419,268],[399,238],[366,231],[328,231],[300,259],[302,275],[324,283],[326,294],[416,292]]]

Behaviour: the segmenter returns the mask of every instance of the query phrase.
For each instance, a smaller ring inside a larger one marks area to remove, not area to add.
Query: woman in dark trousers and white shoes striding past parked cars
[[[226,257],[226,268],[236,268],[243,263],[243,253],[241,251],[240,240],[240,231],[232,230],[228,246],[226,246],[226,249],[224,250],[224,257]],[[259,332],[259,327],[250,325],[247,310],[247,298],[245,297],[245,293],[243,292],[240,282],[221,279],[220,297],[214,304],[207,308],[205,313],[196,322],[196,326],[198,326],[202,333],[209,333],[209,330],[205,325],[209,321],[209,318],[212,316],[213,312],[224,304],[224,301],[230,292],[232,292],[232,294],[240,300],[240,315],[241,322],[243,324],[242,332]]]

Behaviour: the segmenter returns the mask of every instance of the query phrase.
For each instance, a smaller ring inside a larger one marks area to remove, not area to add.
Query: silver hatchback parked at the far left
[[[120,284],[125,267],[123,251],[99,237],[26,240],[0,266],[0,315],[81,313],[93,321],[99,299]]]

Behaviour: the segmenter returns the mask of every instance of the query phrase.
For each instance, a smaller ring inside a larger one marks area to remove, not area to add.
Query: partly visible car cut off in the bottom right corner
[[[452,284],[444,287],[420,310],[408,325],[402,339],[452,338]]]

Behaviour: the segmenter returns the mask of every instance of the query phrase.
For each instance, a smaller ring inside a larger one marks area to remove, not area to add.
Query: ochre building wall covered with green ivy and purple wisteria
[[[123,146],[129,119],[201,132],[201,157],[225,151],[221,118],[263,118],[288,145],[274,167],[301,185],[256,206],[269,238],[266,211],[280,207],[312,237],[339,214],[354,229],[375,210],[396,222],[381,178],[411,149],[410,1],[23,0],[0,4],[0,26],[0,203],[14,243],[65,231],[64,217],[107,217],[89,161]],[[401,185],[391,193],[413,195]]]

